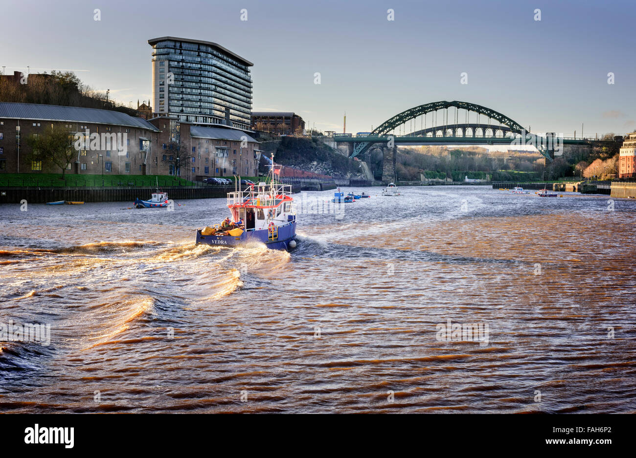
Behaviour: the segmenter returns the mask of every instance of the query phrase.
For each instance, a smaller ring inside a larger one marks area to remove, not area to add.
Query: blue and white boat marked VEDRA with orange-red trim
[[[291,185],[278,182],[280,166],[271,167],[269,182],[248,185],[240,191],[240,177],[235,181],[236,191],[228,192],[227,203],[232,219],[228,217],[221,224],[197,229],[197,245],[262,242],[274,250],[296,247],[296,210]]]

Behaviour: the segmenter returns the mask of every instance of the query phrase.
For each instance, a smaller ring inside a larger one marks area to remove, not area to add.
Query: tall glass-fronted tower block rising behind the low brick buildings
[[[153,47],[153,100],[158,116],[249,129],[251,62],[204,41],[166,37],[148,43]]]

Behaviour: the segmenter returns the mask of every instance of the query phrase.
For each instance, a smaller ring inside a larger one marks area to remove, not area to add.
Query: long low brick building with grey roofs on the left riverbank
[[[67,128],[71,135],[86,134],[86,130],[100,137],[119,134],[121,142],[125,134],[123,155],[115,144],[106,149],[104,144],[95,148],[83,143],[68,167],[70,173],[99,175],[103,170],[114,175],[179,175],[195,180],[233,173],[254,176],[258,170],[259,144],[241,130],[205,128],[165,117],[146,121],[109,110],[0,103],[0,173],[61,173],[58,167],[26,160],[30,151],[25,138],[42,135],[52,125]],[[188,152],[187,163],[183,161],[179,170],[169,160],[170,141],[181,142]]]

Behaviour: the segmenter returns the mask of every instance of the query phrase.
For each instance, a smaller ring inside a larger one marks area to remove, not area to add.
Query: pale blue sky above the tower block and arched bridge
[[[342,131],[346,111],[348,132],[370,131],[437,100],[485,105],[537,132],[636,128],[633,1],[26,0],[3,4],[3,18],[6,72],[78,70],[126,104],[150,97],[148,39],[178,36],[254,62],[254,111],[298,112],[323,130]]]

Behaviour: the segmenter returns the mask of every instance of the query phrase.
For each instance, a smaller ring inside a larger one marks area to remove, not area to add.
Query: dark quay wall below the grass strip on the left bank
[[[162,191],[168,193],[170,199],[225,199],[228,192],[234,192],[233,186],[228,187],[162,187]],[[300,186],[292,187],[292,192],[300,192]],[[28,203],[46,203],[64,201],[83,202],[133,202],[136,198],[149,199],[151,194],[156,192],[154,187],[131,187],[131,188],[104,188],[104,187],[81,187],[81,188],[37,188],[37,187],[5,187],[0,188],[0,204],[21,203],[22,200]]]

